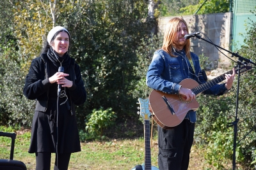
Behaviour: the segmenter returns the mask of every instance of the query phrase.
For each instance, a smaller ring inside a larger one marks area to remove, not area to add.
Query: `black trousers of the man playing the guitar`
[[[186,170],[193,144],[195,124],[183,120],[173,129],[158,126],[158,166],[160,170]]]

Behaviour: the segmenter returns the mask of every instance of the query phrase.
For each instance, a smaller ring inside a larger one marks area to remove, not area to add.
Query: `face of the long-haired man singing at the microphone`
[[[180,22],[179,26],[178,26],[178,30],[175,33],[175,38],[173,43],[177,46],[182,46],[184,47],[187,43],[187,39],[184,38],[184,36],[188,34],[188,29],[186,27],[186,25],[184,24],[184,22]]]

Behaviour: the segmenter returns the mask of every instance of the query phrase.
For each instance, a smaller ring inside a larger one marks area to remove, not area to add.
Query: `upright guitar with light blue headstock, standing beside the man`
[[[145,164],[142,166],[136,166],[132,170],[159,170],[155,166],[151,166],[151,152],[150,152],[150,121],[151,116],[150,111],[148,110],[148,99],[138,99],[140,103],[140,115],[144,119],[144,141],[145,141]],[[141,169],[142,167],[142,169]]]

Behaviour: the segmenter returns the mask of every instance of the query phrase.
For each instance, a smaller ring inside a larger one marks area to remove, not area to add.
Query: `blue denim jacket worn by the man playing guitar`
[[[174,52],[173,54],[177,57],[170,56],[164,50],[157,50],[148,67],[147,86],[167,94],[179,94],[179,83],[186,78],[191,78],[199,84],[205,83],[206,81],[202,74],[199,58],[195,53],[190,53],[195,67],[195,73],[186,57],[185,50]],[[227,88],[225,87],[225,83],[223,83],[221,85],[214,85],[210,89],[205,90],[203,94],[220,96],[225,94],[225,92],[227,92]],[[196,112],[193,110],[189,111],[185,118],[189,118],[192,123],[195,123]]]

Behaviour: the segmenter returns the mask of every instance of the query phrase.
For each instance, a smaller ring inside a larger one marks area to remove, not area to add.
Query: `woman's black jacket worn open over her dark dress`
[[[72,105],[80,105],[86,101],[86,91],[84,89],[84,83],[81,78],[81,71],[79,66],[75,63],[75,60],[70,58],[70,67],[74,66],[74,69],[70,69],[70,78],[72,79],[73,86],[68,89],[71,97]],[[45,111],[47,108],[47,101],[49,93],[49,87],[52,85],[49,78],[49,59],[47,53],[43,53],[40,57],[33,59],[29,69],[29,73],[26,76],[25,86],[23,89],[24,96],[30,100],[38,101],[40,104],[36,104],[37,111]],[[73,73],[74,71],[74,73]],[[56,89],[57,90],[57,89]],[[57,94],[57,92],[56,92]],[[45,103],[46,102],[46,103]],[[39,108],[39,106],[41,108]],[[74,107],[72,107],[74,108]],[[74,111],[74,110],[73,110]],[[75,111],[74,111],[75,113]]]

